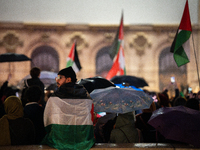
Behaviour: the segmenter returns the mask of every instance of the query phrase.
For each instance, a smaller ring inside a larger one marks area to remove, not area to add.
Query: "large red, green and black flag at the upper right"
[[[170,52],[174,53],[174,60],[178,67],[190,62],[185,51],[190,50],[191,33],[192,27],[190,22],[190,13],[187,0],[181,23],[179,25],[176,36],[170,49]]]

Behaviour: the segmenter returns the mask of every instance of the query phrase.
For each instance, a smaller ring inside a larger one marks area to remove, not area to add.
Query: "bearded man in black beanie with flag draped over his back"
[[[94,145],[93,101],[76,81],[72,67],[58,72],[58,89],[48,99],[44,111],[47,134],[42,144],[59,150],[88,150]]]

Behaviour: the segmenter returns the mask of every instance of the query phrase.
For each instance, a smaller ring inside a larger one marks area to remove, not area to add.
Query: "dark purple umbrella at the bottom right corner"
[[[184,106],[155,110],[148,123],[166,139],[200,147],[200,111]]]

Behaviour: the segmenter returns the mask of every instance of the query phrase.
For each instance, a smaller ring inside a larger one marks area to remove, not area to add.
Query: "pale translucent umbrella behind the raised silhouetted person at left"
[[[51,71],[41,71],[40,73],[40,80],[44,83],[45,87],[49,86],[50,84],[55,84],[56,80],[55,78],[57,77],[56,72],[51,72]],[[24,86],[24,80],[30,79],[31,76],[27,75],[25,76],[19,83],[18,86],[20,89],[23,88]]]

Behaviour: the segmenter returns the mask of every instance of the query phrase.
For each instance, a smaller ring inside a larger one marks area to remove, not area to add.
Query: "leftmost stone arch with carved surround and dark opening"
[[[30,44],[25,48],[25,51],[24,53],[32,58],[30,68],[37,66],[41,70],[58,72],[62,66],[66,65],[68,51],[58,41],[58,38],[51,37],[45,33],[36,39],[32,39]]]

